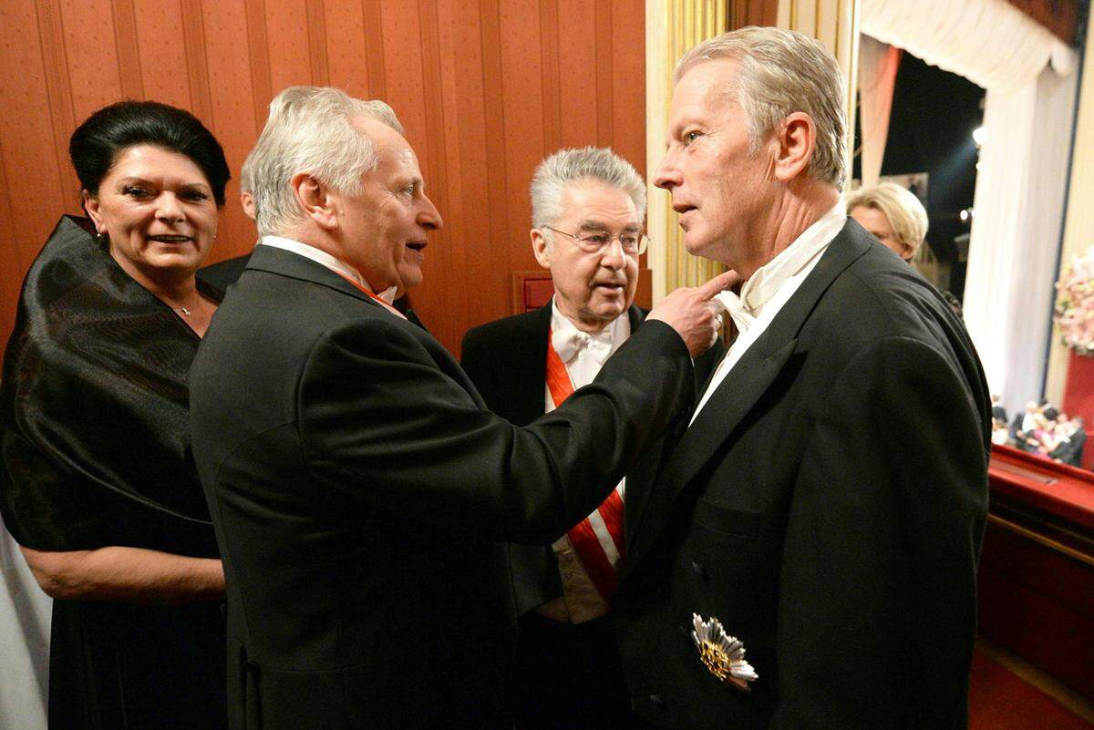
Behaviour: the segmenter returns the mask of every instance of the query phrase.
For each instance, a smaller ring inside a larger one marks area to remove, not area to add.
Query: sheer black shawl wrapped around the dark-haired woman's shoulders
[[[65,216],[31,266],[0,382],[0,509],[49,551],[217,556],[189,456],[199,338]]]

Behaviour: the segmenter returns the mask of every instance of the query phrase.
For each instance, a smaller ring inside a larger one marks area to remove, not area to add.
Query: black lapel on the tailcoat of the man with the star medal
[[[711,395],[680,437],[641,511],[635,514],[633,544],[627,545],[628,570],[641,562],[645,551],[656,541],[684,488],[778,378],[794,352],[798,332],[825,291],[872,244],[873,238],[849,220],[767,331],[753,343]]]

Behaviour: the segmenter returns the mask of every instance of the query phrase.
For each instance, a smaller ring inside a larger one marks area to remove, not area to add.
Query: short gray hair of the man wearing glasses
[[[532,227],[554,225],[566,213],[566,186],[578,180],[600,180],[622,190],[635,201],[639,222],[645,220],[645,182],[635,166],[608,148],[587,146],[559,150],[539,163],[532,176]]]

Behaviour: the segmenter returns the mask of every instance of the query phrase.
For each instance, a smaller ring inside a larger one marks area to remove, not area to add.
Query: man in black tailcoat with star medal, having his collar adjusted
[[[745,282],[690,426],[627,486],[613,602],[651,728],[965,728],[989,401],[962,322],[839,200],[845,96],[816,40],[680,60],[654,181]]]

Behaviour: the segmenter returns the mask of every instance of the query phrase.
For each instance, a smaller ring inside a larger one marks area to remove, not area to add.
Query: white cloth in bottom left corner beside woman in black
[[[53,601],[0,522],[0,728],[45,730]]]

